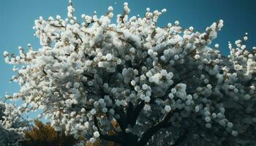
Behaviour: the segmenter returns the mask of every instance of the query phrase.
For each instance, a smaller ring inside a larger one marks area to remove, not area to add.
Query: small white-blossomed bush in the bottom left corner
[[[0,145],[18,145],[27,121],[12,104],[0,100]]]

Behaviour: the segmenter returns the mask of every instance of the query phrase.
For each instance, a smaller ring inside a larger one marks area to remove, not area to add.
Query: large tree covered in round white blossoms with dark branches
[[[157,26],[166,9],[128,18],[124,3],[116,23],[113,7],[81,15],[83,23],[71,1],[67,9],[66,19],[35,20],[41,48],[4,52],[22,66],[11,98],[23,99],[23,110],[42,109],[56,130],[91,143],[256,145],[256,47],[246,49],[247,36],[226,57],[211,47],[223,20],[199,32],[178,21]]]

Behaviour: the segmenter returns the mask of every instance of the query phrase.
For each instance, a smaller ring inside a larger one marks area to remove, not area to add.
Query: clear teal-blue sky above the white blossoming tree
[[[166,8],[167,12],[159,18],[159,26],[179,20],[181,26],[194,26],[195,30],[203,31],[206,26],[222,19],[224,28],[214,43],[227,55],[227,42],[234,42],[249,34],[247,45],[256,46],[256,1],[255,0],[127,0],[131,15],[143,15],[146,7],[151,10]],[[77,18],[85,13],[91,15],[95,10],[104,15],[108,6],[113,6],[115,15],[122,12],[123,0],[73,0]],[[34,37],[34,20],[42,16],[48,18],[61,15],[67,16],[68,0],[1,0],[0,1],[0,53],[4,50],[18,53],[18,46],[26,48],[30,43],[39,48],[39,40]],[[114,21],[113,21],[114,22]],[[0,55],[0,96],[5,92],[18,92],[16,82],[10,83],[12,66],[4,63]],[[34,114],[30,114],[32,117]]]

